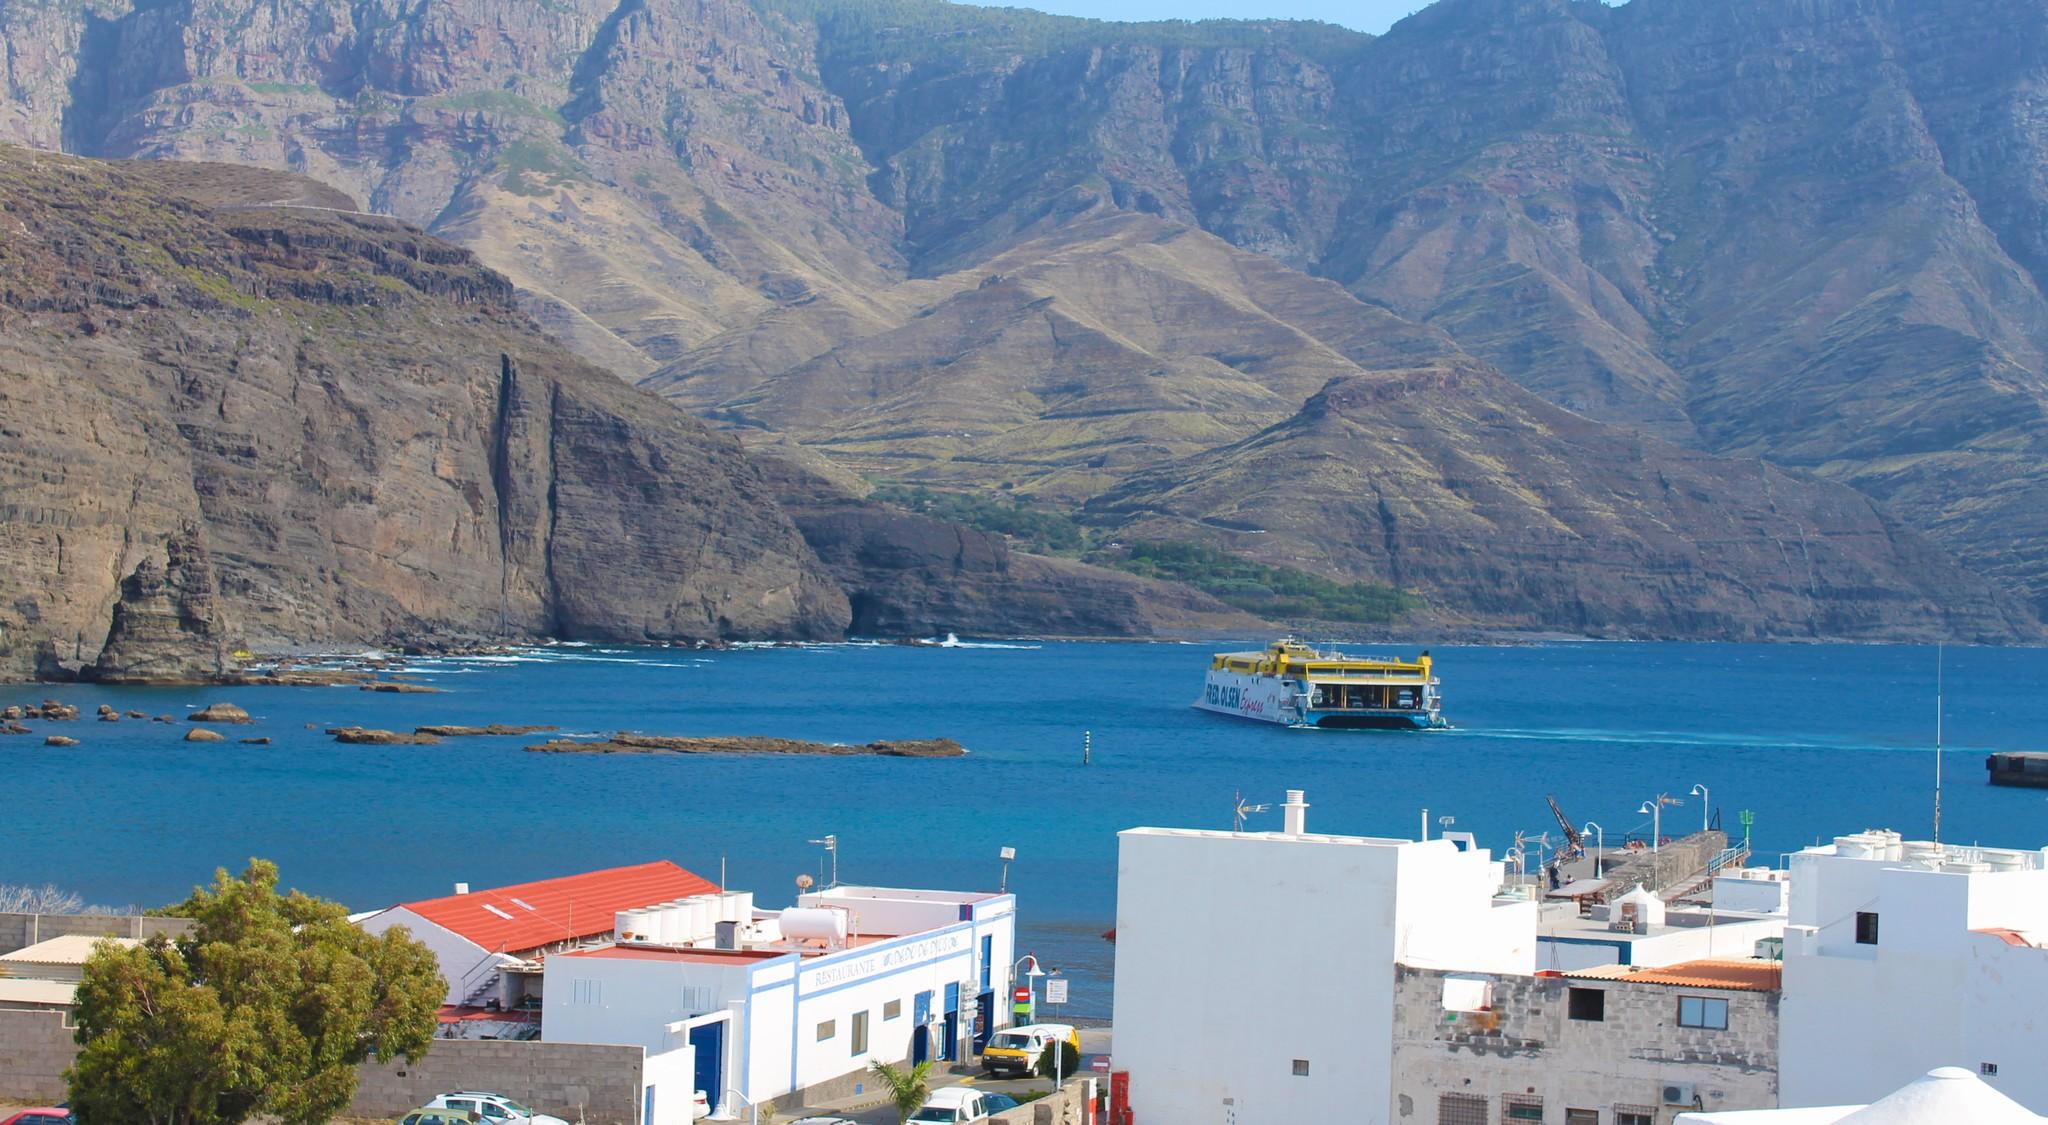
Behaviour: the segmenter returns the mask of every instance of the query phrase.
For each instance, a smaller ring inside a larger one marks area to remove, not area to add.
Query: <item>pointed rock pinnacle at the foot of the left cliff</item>
[[[121,582],[113,625],[88,678],[102,684],[193,684],[227,670],[213,561],[184,523]]]

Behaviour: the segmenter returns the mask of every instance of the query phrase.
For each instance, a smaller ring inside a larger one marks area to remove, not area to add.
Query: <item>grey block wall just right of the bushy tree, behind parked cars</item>
[[[397,1117],[449,1090],[489,1090],[586,1125],[639,1125],[641,1047],[436,1039],[420,1061],[362,1064],[354,1117]]]

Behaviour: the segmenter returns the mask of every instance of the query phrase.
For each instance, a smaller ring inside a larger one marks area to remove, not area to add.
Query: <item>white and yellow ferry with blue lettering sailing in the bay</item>
[[[1290,727],[1442,730],[1430,654],[1415,660],[1317,652],[1292,637],[1266,652],[1219,652],[1194,701],[1202,711]]]

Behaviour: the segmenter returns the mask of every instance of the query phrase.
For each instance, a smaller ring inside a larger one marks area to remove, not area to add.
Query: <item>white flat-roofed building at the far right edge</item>
[[[1864,1105],[1964,1066],[2048,1111],[2044,852],[1872,830],[1790,867],[1782,1105]]]

